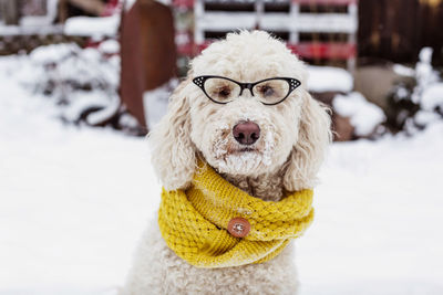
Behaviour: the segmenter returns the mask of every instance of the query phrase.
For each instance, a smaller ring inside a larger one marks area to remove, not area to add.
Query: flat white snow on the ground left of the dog
[[[63,126],[3,73],[0,294],[109,294],[157,207],[146,143]]]

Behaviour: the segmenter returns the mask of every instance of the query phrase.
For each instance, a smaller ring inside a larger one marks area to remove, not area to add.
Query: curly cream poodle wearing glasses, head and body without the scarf
[[[164,188],[189,188],[198,159],[265,201],[313,188],[331,140],[330,117],[306,81],[302,62],[266,32],[229,33],[209,45],[150,135]],[[200,268],[166,245],[155,221],[123,294],[296,294],[297,285],[291,245],[265,263]]]

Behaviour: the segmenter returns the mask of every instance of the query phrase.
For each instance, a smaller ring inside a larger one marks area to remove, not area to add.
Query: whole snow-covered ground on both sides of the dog
[[[116,294],[159,185],[143,138],[62,125],[0,62],[0,294]],[[443,123],[334,144],[301,295],[443,294]]]

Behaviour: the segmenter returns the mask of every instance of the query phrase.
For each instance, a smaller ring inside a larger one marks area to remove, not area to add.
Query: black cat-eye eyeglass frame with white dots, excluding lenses
[[[233,102],[233,101],[229,101],[229,102],[226,102],[226,103],[217,102],[217,101],[213,99],[213,98],[206,93],[206,91],[205,91],[205,82],[206,82],[206,80],[213,78],[213,77],[215,77],[215,78],[224,78],[224,80],[234,82],[235,84],[237,84],[238,86],[240,86],[240,94],[239,94],[239,95],[243,94],[243,91],[244,91],[244,89],[249,89],[249,92],[250,92],[250,94],[251,94],[253,96],[254,96],[253,88],[254,88],[254,86],[256,86],[256,85],[259,84],[259,83],[262,83],[262,82],[266,82],[266,81],[270,81],[270,80],[284,80],[284,81],[288,82],[288,84],[289,84],[289,91],[288,91],[287,95],[286,95],[284,98],[281,98],[281,99],[278,101],[277,103],[272,103],[272,104],[267,104],[267,103],[264,103],[264,102],[260,101],[260,103],[262,103],[264,105],[277,105],[277,104],[279,104],[279,103],[282,103],[286,98],[288,98],[288,96],[289,96],[295,89],[297,89],[297,88],[301,85],[301,82],[298,81],[297,78],[293,78],[293,77],[269,77],[269,78],[260,80],[260,81],[257,81],[257,82],[254,82],[254,83],[240,83],[240,82],[237,82],[237,81],[231,80],[231,78],[228,78],[228,77],[224,77],[224,76],[214,76],[214,75],[204,75],[204,76],[197,76],[197,77],[193,78],[194,84],[197,85],[197,86],[203,91],[203,93],[207,96],[207,98],[209,98],[212,102],[214,102],[214,103],[216,103],[216,104],[220,104],[220,105],[226,105],[226,104],[228,104],[228,103],[230,103],[230,102]]]

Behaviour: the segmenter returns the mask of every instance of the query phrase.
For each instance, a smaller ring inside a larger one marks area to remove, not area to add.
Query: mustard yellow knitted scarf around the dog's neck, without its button
[[[313,219],[312,190],[262,201],[230,185],[204,165],[186,191],[163,189],[158,224],[166,244],[197,267],[261,263],[277,256],[290,239],[300,236]],[[250,231],[235,238],[234,218],[246,219]]]

